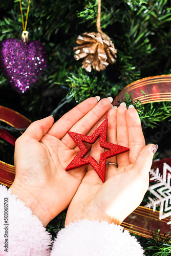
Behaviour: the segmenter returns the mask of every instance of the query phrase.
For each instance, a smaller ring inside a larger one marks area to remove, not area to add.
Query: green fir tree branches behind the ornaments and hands
[[[28,0],[22,2],[24,17],[28,3]],[[103,71],[92,70],[89,73],[81,68],[82,60],[74,59],[73,48],[78,46],[78,35],[97,31],[97,1],[33,0],[27,30],[30,40],[39,40],[46,47],[47,69],[33,88],[23,95],[13,90],[0,71],[0,105],[18,111],[32,121],[52,113],[55,113],[57,120],[87,97],[116,97],[125,86],[137,79],[170,74],[170,11],[168,0],[102,1],[101,29],[114,42],[117,60]],[[0,3],[0,44],[10,37],[20,38],[21,34],[19,0]],[[126,96],[127,105],[132,103],[130,96]],[[159,144],[159,158],[170,157],[170,130],[162,139],[153,138],[153,134],[160,131],[162,120],[171,118],[170,102],[133,104],[140,115],[147,142]],[[18,137],[19,133],[13,132],[13,135]],[[1,160],[13,164],[13,147],[3,139],[0,139],[0,154]],[[64,218],[65,212],[47,229],[55,234],[62,227]],[[164,256],[170,253],[169,237],[163,241],[158,233],[152,241],[139,240],[146,255]]]

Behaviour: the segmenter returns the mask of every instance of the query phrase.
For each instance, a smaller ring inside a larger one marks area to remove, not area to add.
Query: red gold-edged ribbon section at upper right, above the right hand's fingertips
[[[171,101],[171,75],[146,77],[130,83],[114,99],[113,104],[125,101],[125,94],[132,94],[133,100],[141,103]]]

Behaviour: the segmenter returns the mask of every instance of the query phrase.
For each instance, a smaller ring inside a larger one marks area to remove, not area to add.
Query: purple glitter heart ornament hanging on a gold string
[[[24,43],[17,38],[8,38],[0,48],[2,71],[18,93],[25,93],[39,79],[47,62],[44,46],[39,41]]]

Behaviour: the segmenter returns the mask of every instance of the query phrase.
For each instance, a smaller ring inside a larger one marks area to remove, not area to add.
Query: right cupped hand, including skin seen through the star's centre
[[[92,168],[88,172],[72,199],[67,211],[66,223],[81,219],[121,222],[141,203],[148,188],[148,173],[153,161],[155,145],[145,146],[141,123],[137,111],[125,105],[108,112],[108,141],[130,148],[129,152],[107,159],[105,182]],[[99,161],[104,149],[96,141],[90,155]]]

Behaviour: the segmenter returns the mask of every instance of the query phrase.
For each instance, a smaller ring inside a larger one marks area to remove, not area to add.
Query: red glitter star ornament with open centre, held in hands
[[[106,159],[130,150],[130,148],[128,147],[116,145],[106,141],[107,128],[108,128],[108,119],[106,118],[102,122],[102,124],[97,128],[97,130],[92,134],[92,136],[68,132],[68,134],[71,136],[71,138],[75,141],[75,143],[79,147],[80,152],[74,157],[71,163],[67,166],[66,170],[72,170],[87,164],[91,164],[92,167],[95,169],[96,173],[98,174],[98,176],[100,177],[100,179],[102,180],[102,182],[104,183]],[[100,154],[99,164],[92,156],[84,158],[84,156],[86,156],[86,154],[88,153],[88,148],[83,143],[83,142],[87,142],[87,143],[93,144],[96,142],[98,138],[100,138],[100,146],[108,150]]]

